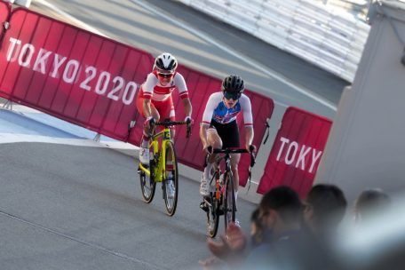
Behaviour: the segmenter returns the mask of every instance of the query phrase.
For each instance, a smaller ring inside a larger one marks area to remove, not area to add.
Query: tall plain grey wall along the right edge
[[[405,3],[374,8],[359,69],[340,100],[315,178],[342,187],[349,200],[367,187],[405,189]]]

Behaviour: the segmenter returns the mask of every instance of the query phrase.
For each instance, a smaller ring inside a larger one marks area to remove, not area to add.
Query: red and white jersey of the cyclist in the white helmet
[[[188,98],[187,84],[183,75],[175,72],[171,83],[163,86],[159,83],[156,70],[147,75],[147,81],[140,86],[140,97],[152,99],[155,101],[164,101],[169,99],[171,92],[178,89],[181,99]]]

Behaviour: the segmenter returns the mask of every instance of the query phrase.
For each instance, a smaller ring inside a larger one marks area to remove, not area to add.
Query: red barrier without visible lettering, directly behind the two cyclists
[[[210,75],[204,75],[203,73],[188,67],[179,67],[179,72],[184,75],[188,89],[190,90],[189,94],[193,104],[193,117],[195,118],[195,125],[193,127],[193,136],[190,139],[185,139],[185,127],[177,129],[175,139],[176,151],[181,163],[185,163],[198,170],[203,170],[204,154],[203,145],[199,137],[200,122],[203,118],[205,105],[210,97],[210,94],[220,91],[221,89],[221,80]],[[245,93],[250,97],[252,106],[253,126],[255,131],[253,143],[259,147],[266,131],[266,119],[271,117],[274,109],[274,103],[272,99],[258,93],[249,90],[245,91]],[[175,94],[173,99],[176,106],[177,118],[184,119],[185,113],[179,96]],[[242,115],[240,115],[238,118],[238,120],[241,122]],[[240,126],[242,127],[242,125]],[[244,129],[241,128],[240,131],[242,146],[244,146]],[[242,186],[246,185],[249,165],[249,155],[243,154],[239,164],[240,184]]]

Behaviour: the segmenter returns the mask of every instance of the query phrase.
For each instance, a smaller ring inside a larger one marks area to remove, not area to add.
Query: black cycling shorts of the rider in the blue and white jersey
[[[239,148],[241,142],[239,139],[238,123],[234,120],[231,123],[218,123],[214,120],[210,123],[210,128],[214,127],[222,140],[222,148]]]

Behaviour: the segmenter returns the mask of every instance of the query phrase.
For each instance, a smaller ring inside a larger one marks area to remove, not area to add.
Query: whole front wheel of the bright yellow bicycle
[[[168,216],[173,216],[176,212],[179,196],[179,171],[176,159],[176,152],[173,142],[166,144],[165,170],[163,180],[163,199]]]

